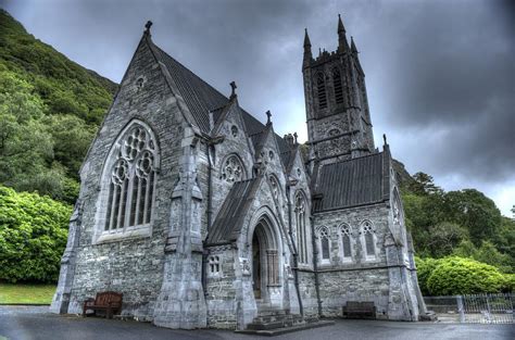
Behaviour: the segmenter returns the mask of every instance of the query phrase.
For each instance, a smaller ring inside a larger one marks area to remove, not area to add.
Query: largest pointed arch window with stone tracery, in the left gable
[[[103,230],[124,232],[149,226],[154,204],[159,152],[150,128],[133,123],[108,160]]]

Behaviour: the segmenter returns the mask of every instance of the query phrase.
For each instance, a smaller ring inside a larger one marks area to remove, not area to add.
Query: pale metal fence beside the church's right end
[[[469,324],[514,324],[513,294],[424,297],[441,320]]]

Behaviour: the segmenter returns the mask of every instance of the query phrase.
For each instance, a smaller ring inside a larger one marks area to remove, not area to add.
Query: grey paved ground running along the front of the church
[[[0,340],[266,339],[237,335],[227,330],[173,330],[154,327],[148,323],[53,315],[47,311],[47,307],[0,306]],[[515,339],[515,325],[460,325],[338,319],[334,326],[288,333],[273,339],[513,340]]]

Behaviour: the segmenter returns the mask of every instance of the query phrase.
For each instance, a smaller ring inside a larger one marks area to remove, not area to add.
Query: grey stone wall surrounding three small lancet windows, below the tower
[[[385,268],[385,238],[389,234],[389,209],[386,204],[348,209],[314,215],[315,229],[329,229],[330,260],[322,262],[318,238],[318,280],[324,316],[341,316],[347,301],[374,301],[377,317],[385,317],[388,311],[389,277]],[[374,226],[375,257],[367,259],[364,250],[362,224],[369,221]],[[352,259],[343,261],[338,228],[347,224],[351,228]]]

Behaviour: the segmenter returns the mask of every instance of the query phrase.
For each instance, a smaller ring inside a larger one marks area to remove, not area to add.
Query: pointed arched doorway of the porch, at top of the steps
[[[252,289],[258,306],[280,302],[279,244],[266,217],[261,218],[252,234]]]

